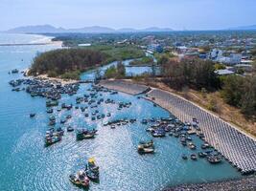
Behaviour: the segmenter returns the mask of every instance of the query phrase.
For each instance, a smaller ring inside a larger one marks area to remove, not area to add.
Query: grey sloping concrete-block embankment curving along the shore
[[[170,92],[134,84],[123,80],[105,80],[100,84],[106,88],[137,95],[146,93],[146,98],[171,112],[182,122],[196,117],[205,140],[217,149],[243,174],[256,172],[256,139],[250,137],[220,117],[198,105]]]

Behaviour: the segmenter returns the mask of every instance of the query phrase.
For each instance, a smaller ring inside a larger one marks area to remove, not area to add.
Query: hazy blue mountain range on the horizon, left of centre
[[[112,32],[173,32],[169,28],[147,28],[143,30],[136,30],[132,28],[124,28],[120,30],[114,30],[107,27],[92,26],[84,27],[81,29],[63,29],[56,28],[51,25],[37,25],[37,26],[24,26],[11,29],[7,32],[10,33],[62,33],[62,32],[78,32],[78,33],[112,33]]]

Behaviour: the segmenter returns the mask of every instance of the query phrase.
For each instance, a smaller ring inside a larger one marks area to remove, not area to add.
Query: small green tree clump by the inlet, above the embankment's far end
[[[126,67],[122,62],[116,66],[110,66],[105,71],[105,78],[123,78],[126,76]]]

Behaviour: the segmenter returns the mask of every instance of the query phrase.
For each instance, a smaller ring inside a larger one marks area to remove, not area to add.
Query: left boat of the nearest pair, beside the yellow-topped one
[[[84,186],[84,187],[88,187],[90,184],[90,180],[86,176],[86,173],[84,170],[80,170],[78,173],[70,175],[69,180],[75,185]]]

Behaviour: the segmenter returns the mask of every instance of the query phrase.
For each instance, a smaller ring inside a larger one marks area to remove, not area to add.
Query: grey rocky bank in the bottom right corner
[[[165,188],[163,191],[254,191],[256,177],[250,176],[240,180],[224,180],[211,183],[183,184]]]

